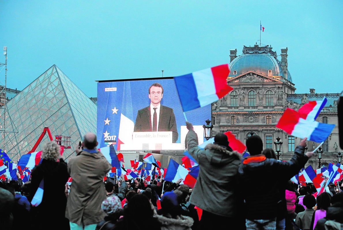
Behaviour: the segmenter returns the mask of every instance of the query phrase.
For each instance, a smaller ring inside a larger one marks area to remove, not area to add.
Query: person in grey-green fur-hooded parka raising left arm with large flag
[[[224,133],[218,133],[213,144],[201,149],[192,124],[186,122],[186,127],[188,153],[200,166],[190,196],[190,203],[202,209],[199,229],[222,229],[223,219],[233,229],[244,229],[244,215],[239,212],[243,206],[238,186],[241,154],[232,150]]]

